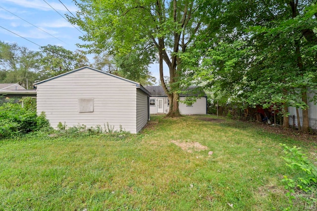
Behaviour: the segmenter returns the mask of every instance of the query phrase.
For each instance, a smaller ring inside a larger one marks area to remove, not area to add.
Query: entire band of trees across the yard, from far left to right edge
[[[298,118],[302,109],[299,128],[308,131],[307,104],[317,102],[316,0],[75,3],[80,10],[68,20],[86,32],[79,46],[98,55],[93,67],[150,84],[149,64],[159,63],[159,84],[170,102],[167,116],[180,116],[180,91],[197,86],[241,109],[279,110],[283,127],[288,127],[289,106],[296,107]],[[82,51],[63,53],[57,46],[39,52],[1,46],[1,82],[15,78],[25,84],[32,76],[32,83],[88,62]]]

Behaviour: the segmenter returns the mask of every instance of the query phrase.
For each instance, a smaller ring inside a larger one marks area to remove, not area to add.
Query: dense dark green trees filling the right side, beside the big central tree
[[[307,113],[307,88],[316,87],[317,7],[312,2],[222,1],[209,10],[217,18],[195,41],[198,53],[183,55],[186,64],[199,66],[187,73],[244,105],[284,108],[287,127],[287,107]],[[303,116],[307,131],[308,116]]]

